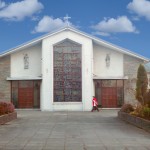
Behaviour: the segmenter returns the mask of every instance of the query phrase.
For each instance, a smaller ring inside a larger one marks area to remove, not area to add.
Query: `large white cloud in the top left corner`
[[[1,9],[0,18],[20,21],[25,17],[32,17],[35,13],[39,12],[43,8],[44,6],[40,2],[38,2],[38,0],[18,1],[15,3],[10,3],[3,9]]]

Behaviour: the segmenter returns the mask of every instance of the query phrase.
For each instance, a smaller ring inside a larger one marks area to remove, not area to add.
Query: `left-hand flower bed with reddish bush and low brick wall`
[[[17,118],[14,105],[8,102],[0,102],[0,125]]]

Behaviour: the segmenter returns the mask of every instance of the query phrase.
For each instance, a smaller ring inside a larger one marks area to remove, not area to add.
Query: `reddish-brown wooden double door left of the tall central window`
[[[18,90],[18,107],[33,108],[33,88],[19,88]]]

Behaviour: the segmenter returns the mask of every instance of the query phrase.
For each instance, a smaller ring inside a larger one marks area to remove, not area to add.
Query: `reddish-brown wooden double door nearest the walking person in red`
[[[101,92],[102,107],[116,108],[117,107],[117,88],[103,87]]]

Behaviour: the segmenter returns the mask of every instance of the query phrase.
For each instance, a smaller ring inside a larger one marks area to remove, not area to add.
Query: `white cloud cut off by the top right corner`
[[[150,20],[150,1],[148,0],[133,0],[127,5],[127,8],[137,14]]]

